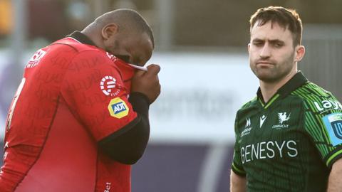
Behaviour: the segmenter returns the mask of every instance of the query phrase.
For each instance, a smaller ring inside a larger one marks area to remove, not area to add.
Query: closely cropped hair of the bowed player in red
[[[155,47],[152,28],[148,25],[145,18],[133,9],[117,9],[107,12],[96,18],[95,23],[116,23],[119,26],[119,31],[147,33],[152,41],[152,46]]]

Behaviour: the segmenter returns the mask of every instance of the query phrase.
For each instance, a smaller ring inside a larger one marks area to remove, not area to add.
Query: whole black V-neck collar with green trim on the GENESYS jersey
[[[306,82],[308,82],[308,79],[304,76],[303,73],[301,73],[301,71],[299,71],[298,73],[296,73],[296,75],[294,75],[294,77],[292,77],[288,82],[286,82],[285,85],[280,87],[276,94],[274,94],[267,103],[264,102],[264,97],[262,97],[262,93],[259,87],[257,91],[258,100],[261,103],[262,107],[266,109],[279,97],[286,97],[292,91],[296,90],[298,87],[301,87],[302,85],[306,84]]]

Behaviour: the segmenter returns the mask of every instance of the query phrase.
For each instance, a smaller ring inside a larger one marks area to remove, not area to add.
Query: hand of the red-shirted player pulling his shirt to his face
[[[148,65],[147,71],[138,70],[133,76],[130,92],[141,92],[150,103],[155,102],[160,94],[159,72],[160,66],[155,64]]]

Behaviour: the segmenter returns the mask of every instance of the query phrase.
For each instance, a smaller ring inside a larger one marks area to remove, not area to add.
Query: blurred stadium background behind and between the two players
[[[229,191],[235,112],[258,88],[247,55],[249,17],[271,5],[299,12],[306,46],[299,68],[341,101],[339,0],[0,0],[1,146],[31,55],[106,11],[130,8],[152,26],[149,63],[162,68],[162,94],[151,107],[151,139],[133,166],[132,191]]]

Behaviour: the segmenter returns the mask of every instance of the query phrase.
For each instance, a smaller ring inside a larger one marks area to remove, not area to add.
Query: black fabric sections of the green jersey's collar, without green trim
[[[291,80],[289,80],[285,83],[285,85],[280,87],[276,94],[278,94],[280,97],[286,97],[292,91],[296,90],[298,87],[301,87],[302,85],[306,84],[306,82],[308,82],[308,79],[304,76],[303,73],[301,73],[301,71],[299,71],[298,73],[296,73],[296,75],[294,75],[294,77],[291,78]],[[258,89],[257,96],[260,100],[264,101],[264,97],[262,97],[260,87]]]

